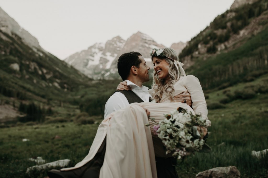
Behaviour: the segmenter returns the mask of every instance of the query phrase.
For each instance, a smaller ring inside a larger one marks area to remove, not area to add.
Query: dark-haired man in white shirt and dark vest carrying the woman
[[[134,102],[149,102],[150,94],[148,87],[142,86],[144,82],[149,81],[148,70],[150,67],[146,65],[146,61],[138,52],[129,52],[121,55],[117,63],[118,73],[128,84],[131,90],[117,91],[106,102],[105,117],[110,113],[125,108],[128,104]],[[175,97],[176,101],[184,101],[191,103],[189,93]],[[148,115],[149,113],[147,113]],[[70,170],[58,171],[51,170],[47,174],[50,178],[63,177],[99,177],[99,171],[102,167],[106,151],[106,139],[103,141],[94,158],[83,166]],[[176,158],[160,158],[156,157],[157,176],[161,177],[178,177],[175,169]]]

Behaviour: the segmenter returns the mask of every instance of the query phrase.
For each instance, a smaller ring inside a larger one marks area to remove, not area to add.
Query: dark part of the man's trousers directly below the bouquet
[[[165,178],[165,177],[178,178],[178,174],[175,168],[177,158],[155,157],[155,161],[156,161],[156,171],[158,178]]]

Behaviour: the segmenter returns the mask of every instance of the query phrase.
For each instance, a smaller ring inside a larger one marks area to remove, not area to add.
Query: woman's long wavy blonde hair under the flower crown
[[[178,80],[181,76],[181,72],[177,70],[173,60],[179,61],[179,57],[177,53],[172,48],[164,48],[164,51],[162,52],[163,56],[152,56],[152,61],[154,57],[157,57],[159,59],[165,60],[169,64],[169,80],[159,79],[158,74],[156,71],[154,71],[154,80],[152,82],[152,97],[156,102],[160,102],[163,94],[167,94],[173,99],[174,94],[174,83],[176,80]],[[168,59],[171,58],[171,59]],[[180,69],[179,69],[180,70]]]

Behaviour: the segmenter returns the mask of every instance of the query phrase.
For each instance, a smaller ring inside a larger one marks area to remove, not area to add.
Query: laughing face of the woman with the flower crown
[[[153,58],[154,70],[157,72],[159,79],[169,79],[169,63],[164,59],[158,57]]]

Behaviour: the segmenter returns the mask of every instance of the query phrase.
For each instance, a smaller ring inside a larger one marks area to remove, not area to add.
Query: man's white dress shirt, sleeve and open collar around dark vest
[[[127,85],[131,87],[131,90],[140,97],[144,102],[148,102],[151,95],[148,92],[148,87],[143,86],[139,87],[135,83],[125,80]],[[114,111],[119,109],[125,108],[128,106],[128,100],[126,99],[125,95],[120,92],[115,92],[106,102],[105,109],[104,109],[104,118],[107,115],[111,114]]]

